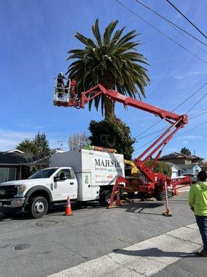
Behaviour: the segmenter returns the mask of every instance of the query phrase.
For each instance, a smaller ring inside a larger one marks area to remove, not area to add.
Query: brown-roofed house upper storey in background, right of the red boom
[[[195,155],[185,155],[177,152],[170,153],[168,155],[159,158],[159,161],[164,161],[168,163],[174,163],[176,165],[184,165],[191,163],[201,163],[204,161],[203,158],[197,157]]]

